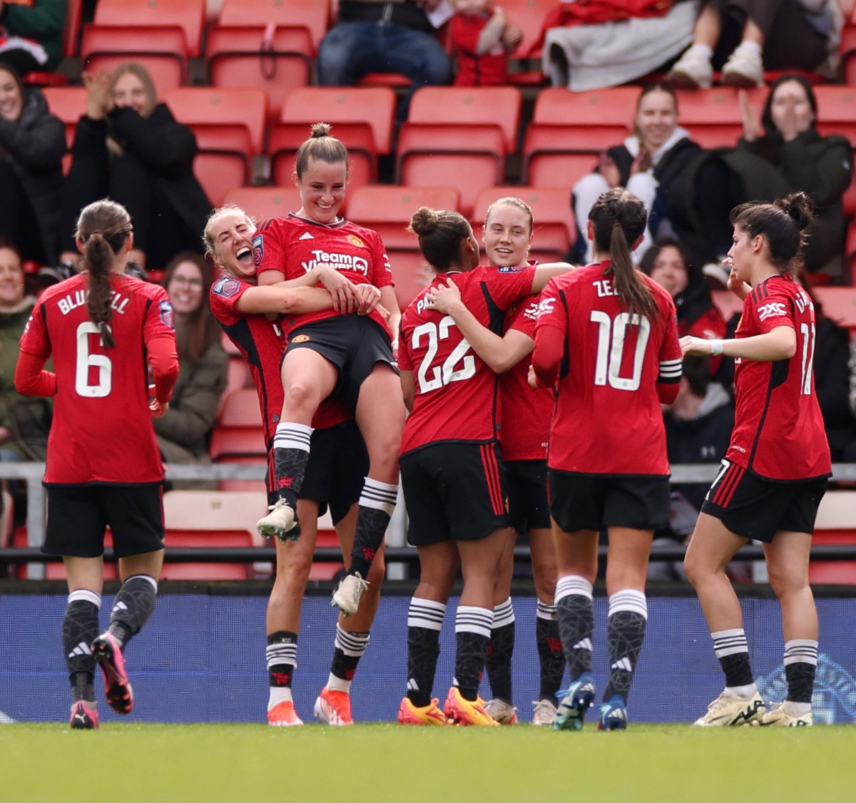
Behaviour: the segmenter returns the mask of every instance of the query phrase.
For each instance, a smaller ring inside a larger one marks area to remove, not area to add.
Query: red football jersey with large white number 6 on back
[[[111,277],[115,348],[104,348],[86,308],[87,275],[47,288],[21,335],[21,351],[53,355],[56,396],[46,485],[163,480],[149,410],[146,343],[175,336],[166,290]]]

